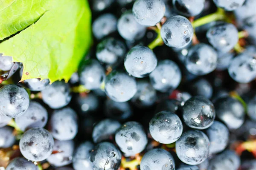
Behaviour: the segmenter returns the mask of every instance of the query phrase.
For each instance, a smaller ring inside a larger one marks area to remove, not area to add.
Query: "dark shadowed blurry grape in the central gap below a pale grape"
[[[111,119],[123,121],[131,117],[133,111],[128,102],[120,103],[108,99],[105,101],[104,113]]]

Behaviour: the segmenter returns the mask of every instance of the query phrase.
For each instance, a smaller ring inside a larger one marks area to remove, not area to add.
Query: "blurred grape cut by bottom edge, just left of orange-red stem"
[[[238,170],[239,166],[239,156],[233,150],[225,150],[211,159],[208,170]]]

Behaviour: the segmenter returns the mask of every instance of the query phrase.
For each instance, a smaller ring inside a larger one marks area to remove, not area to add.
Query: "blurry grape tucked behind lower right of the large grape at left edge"
[[[48,120],[47,110],[38,102],[31,101],[26,112],[15,118],[20,130],[25,131],[32,127],[44,127]]]

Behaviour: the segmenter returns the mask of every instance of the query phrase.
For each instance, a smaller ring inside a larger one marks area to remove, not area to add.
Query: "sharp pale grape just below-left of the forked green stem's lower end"
[[[137,45],[128,51],[124,64],[129,74],[143,78],[157,67],[157,57],[150,48]]]

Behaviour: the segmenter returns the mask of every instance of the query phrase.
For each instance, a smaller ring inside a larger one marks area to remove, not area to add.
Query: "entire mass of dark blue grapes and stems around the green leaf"
[[[69,82],[0,54],[0,170],[255,170],[256,0],[88,1]]]

